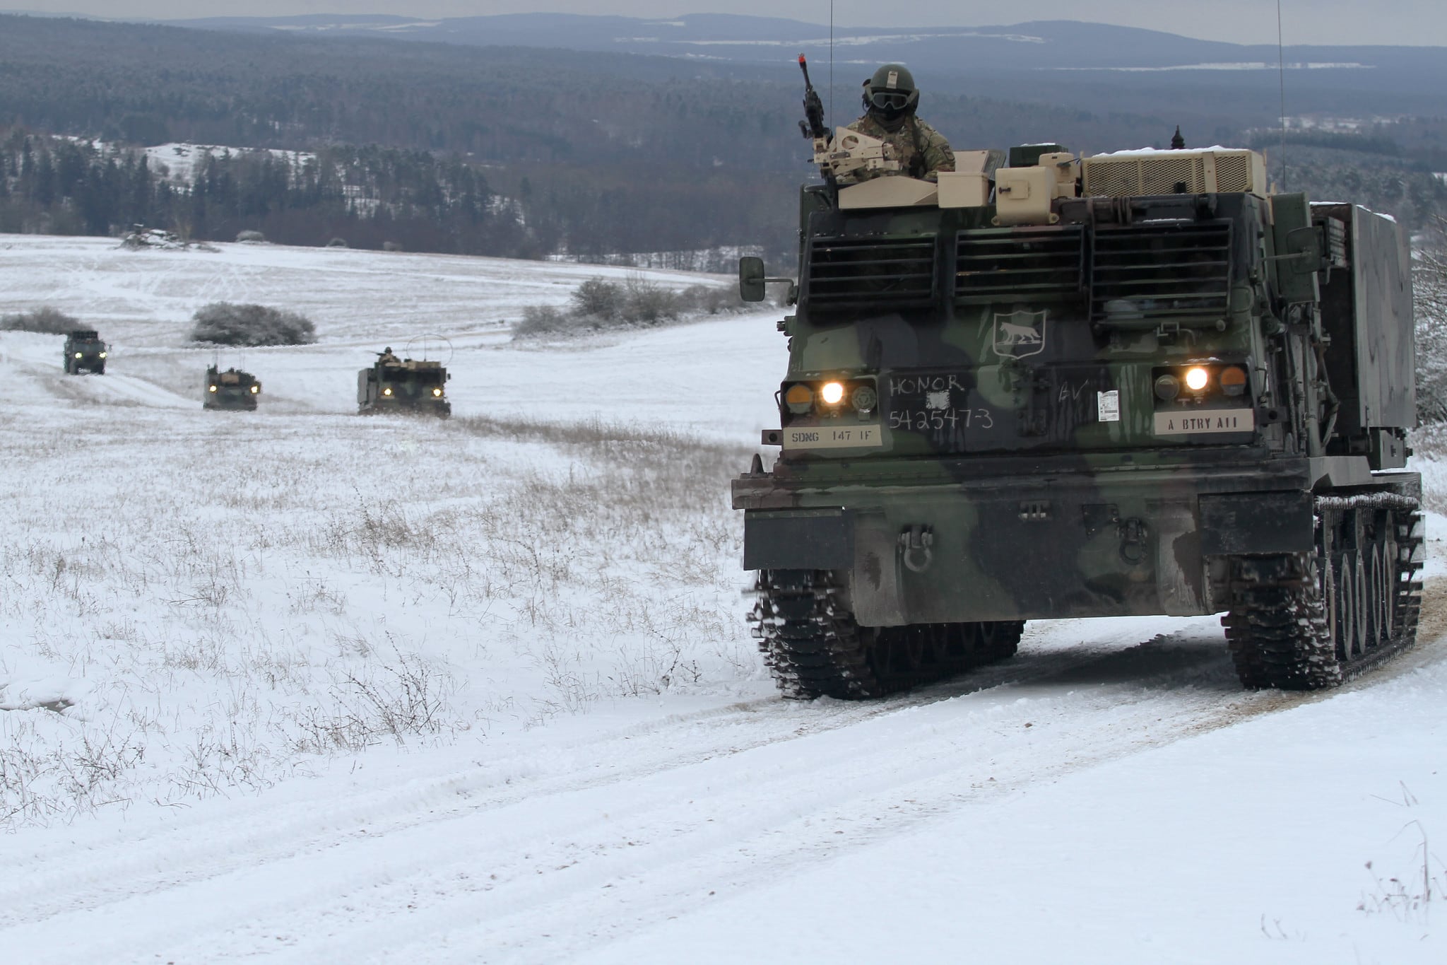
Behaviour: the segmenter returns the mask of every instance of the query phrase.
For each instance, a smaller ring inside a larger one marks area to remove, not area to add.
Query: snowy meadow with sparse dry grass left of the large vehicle
[[[126,418],[0,428],[49,480],[0,493],[0,823],[760,673],[748,450],[459,418],[399,424],[379,462],[372,421]]]

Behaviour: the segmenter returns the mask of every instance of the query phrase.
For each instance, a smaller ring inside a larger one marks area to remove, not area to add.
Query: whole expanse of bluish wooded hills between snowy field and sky
[[[771,260],[787,258],[794,192],[812,177],[797,129],[799,49],[813,52],[833,123],[857,114],[860,77],[899,56],[917,67],[920,113],[956,148],[1163,146],[1179,124],[1189,145],[1256,143],[1275,152],[1273,171],[1281,161],[1278,77],[1242,59],[1263,56],[1259,48],[1100,25],[842,32],[831,90],[820,27],[787,20],[195,23],[0,16],[0,221],[106,233],[145,211],[179,218],[187,208],[174,194],[152,197],[149,166],[80,158],[59,143],[30,146],[27,178],[26,137],[58,135],[122,149],[190,142],[347,159],[310,174],[265,158],[216,166],[185,220],[223,240],[260,229],[408,250],[605,258],[763,246]],[[511,45],[479,46],[488,39]],[[1425,55],[1341,48],[1321,56],[1359,59],[1294,71],[1289,110],[1324,107],[1288,139],[1288,156],[1312,162],[1291,184],[1360,184],[1359,200],[1409,224],[1447,210],[1447,187],[1431,177],[1447,171],[1447,84],[1392,87],[1393,77],[1440,74]],[[1357,169],[1372,177],[1353,181]]]

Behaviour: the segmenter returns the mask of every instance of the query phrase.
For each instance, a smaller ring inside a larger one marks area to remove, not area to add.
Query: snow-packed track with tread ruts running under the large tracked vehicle
[[[1440,590],[1424,639],[1447,629]],[[33,961],[559,961],[721,887],[1320,699],[1236,690],[1205,621],[1134,647],[1027,641],[880,703],[754,700],[554,742],[544,761],[522,748],[372,787],[294,783],[119,842],[78,835],[7,862],[0,922]]]

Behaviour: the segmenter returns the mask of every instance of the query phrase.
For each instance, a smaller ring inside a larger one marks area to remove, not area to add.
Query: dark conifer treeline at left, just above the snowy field
[[[423,150],[336,146],[315,155],[207,155],[179,184],[140,150],[12,132],[0,140],[0,231],[514,253],[522,224],[472,165]]]

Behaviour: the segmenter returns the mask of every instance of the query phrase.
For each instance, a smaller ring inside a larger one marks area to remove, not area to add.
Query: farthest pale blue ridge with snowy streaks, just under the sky
[[[829,55],[828,26],[734,14],[667,20],[561,13],[433,20],[314,14],[175,23],[253,33],[663,55],[695,64],[787,65],[799,52],[815,62]],[[867,65],[903,61],[932,90],[948,94],[1129,111],[1159,110],[1172,101],[1188,107],[1214,103],[1239,114],[1243,124],[1279,114],[1275,46],[1066,20],[977,27],[836,26],[833,36],[839,87],[851,93]],[[1444,48],[1288,46],[1285,62],[1291,113],[1447,114]]]

